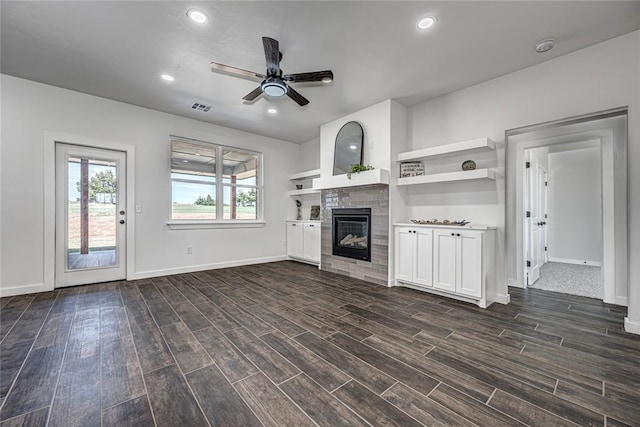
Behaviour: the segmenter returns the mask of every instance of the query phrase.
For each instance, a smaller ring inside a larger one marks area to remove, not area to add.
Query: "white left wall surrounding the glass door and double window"
[[[29,285],[38,290],[44,282],[45,132],[135,146],[135,203],[142,207],[135,217],[136,277],[284,258],[284,221],[292,203],[287,177],[295,171],[297,144],[6,75],[1,85],[3,293]],[[261,151],[266,226],[168,229],[170,134]]]

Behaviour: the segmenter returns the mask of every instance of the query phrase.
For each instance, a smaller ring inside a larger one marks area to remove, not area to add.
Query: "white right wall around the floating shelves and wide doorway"
[[[481,136],[504,143],[507,129],[621,106],[629,107],[628,158],[639,159],[639,31],[410,107],[409,146],[417,149]],[[504,173],[504,146],[496,155],[497,170]],[[504,242],[505,181],[494,184],[425,186],[410,190],[406,201],[412,218],[451,216],[497,225],[499,241]],[[629,223],[633,261],[640,259],[640,166],[631,161]],[[504,245],[498,255],[504,271]],[[640,263],[629,265],[629,320],[640,333]]]

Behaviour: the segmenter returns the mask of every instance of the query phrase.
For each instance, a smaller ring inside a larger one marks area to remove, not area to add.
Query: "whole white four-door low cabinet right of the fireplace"
[[[493,301],[495,230],[397,224],[396,283],[487,307]],[[487,287],[487,282],[491,282]]]

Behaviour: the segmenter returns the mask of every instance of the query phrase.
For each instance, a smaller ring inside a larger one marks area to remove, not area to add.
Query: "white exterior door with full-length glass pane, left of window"
[[[126,278],[126,154],[56,144],[55,286]]]

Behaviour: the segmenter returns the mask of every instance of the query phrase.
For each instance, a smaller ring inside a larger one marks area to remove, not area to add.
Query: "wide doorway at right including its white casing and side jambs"
[[[557,291],[601,281],[588,296],[626,306],[627,109],[508,130],[506,158],[509,286],[541,286],[559,266]]]

